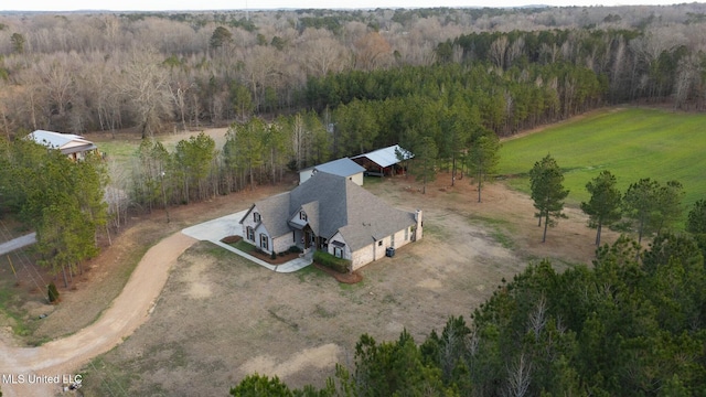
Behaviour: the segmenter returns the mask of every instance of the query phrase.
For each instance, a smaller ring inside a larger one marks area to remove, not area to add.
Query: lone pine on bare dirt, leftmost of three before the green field
[[[534,168],[530,171],[530,181],[534,207],[538,211],[535,213],[539,218],[537,226],[542,226],[542,218],[544,218],[542,236],[542,243],[544,243],[547,238],[547,227],[554,226],[556,218],[566,217],[563,213],[564,198],[569,191],[564,189],[564,173],[550,154],[534,163]]]

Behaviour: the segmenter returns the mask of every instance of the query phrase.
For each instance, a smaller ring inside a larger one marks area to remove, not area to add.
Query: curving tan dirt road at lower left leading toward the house
[[[81,365],[105,353],[147,321],[167,282],[170,267],[196,240],[175,233],[150,248],[122,292],[98,321],[39,347],[0,343],[3,396],[54,396]]]

